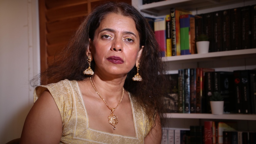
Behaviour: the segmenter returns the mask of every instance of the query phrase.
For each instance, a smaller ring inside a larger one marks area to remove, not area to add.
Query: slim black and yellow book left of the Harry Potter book
[[[166,15],[166,56],[172,56],[172,41],[171,41],[171,15]]]

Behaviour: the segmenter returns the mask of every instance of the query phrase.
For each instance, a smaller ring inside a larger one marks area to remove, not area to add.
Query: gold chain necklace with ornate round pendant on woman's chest
[[[94,90],[96,91],[96,93],[99,95],[99,97],[105,102],[105,104],[107,105],[107,107],[109,108],[110,110],[110,115],[108,116],[108,122],[114,126],[113,129],[116,130],[116,124],[118,124],[118,119],[117,119],[117,116],[114,114],[114,111],[116,110],[116,108],[118,107],[118,105],[121,103],[122,99],[123,99],[123,96],[124,96],[124,87],[123,87],[123,94],[122,94],[122,97],[120,99],[120,102],[118,103],[118,105],[113,108],[113,107],[109,107],[107,102],[105,101],[105,99],[102,98],[102,96],[99,94],[99,92],[97,91],[97,89],[95,88],[95,86],[93,85],[92,83],[92,80],[91,80],[91,77],[90,77],[90,81],[91,81],[91,85],[92,87],[94,88]]]

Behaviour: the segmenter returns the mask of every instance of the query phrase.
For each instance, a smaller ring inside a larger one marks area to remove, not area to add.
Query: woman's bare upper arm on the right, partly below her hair
[[[162,127],[160,124],[159,115],[156,116],[156,125],[151,129],[144,139],[145,144],[161,144],[162,140]]]

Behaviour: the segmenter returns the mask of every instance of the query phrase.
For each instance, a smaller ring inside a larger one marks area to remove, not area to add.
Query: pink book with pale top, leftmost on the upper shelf
[[[157,18],[154,21],[154,33],[157,40],[157,43],[159,44],[160,48],[160,56],[165,57],[166,56],[166,39],[165,39],[165,18]]]

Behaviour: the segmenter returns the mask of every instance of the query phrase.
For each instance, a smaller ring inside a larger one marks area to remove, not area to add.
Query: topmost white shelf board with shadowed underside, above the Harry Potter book
[[[159,15],[162,10],[170,9],[171,7],[178,7],[185,10],[200,10],[212,7],[219,7],[226,4],[244,3],[250,0],[165,0],[153,2],[150,4],[143,4],[140,8],[141,12]]]

